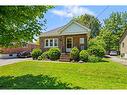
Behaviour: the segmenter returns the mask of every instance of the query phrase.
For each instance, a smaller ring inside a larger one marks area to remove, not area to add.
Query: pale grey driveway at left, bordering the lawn
[[[11,58],[11,59],[0,59],[0,66],[13,64],[25,60],[32,60],[31,58]]]

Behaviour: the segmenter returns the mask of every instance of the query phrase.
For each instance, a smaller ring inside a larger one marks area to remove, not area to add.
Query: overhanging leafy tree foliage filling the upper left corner
[[[44,14],[52,6],[1,6],[0,46],[22,45],[44,29]]]

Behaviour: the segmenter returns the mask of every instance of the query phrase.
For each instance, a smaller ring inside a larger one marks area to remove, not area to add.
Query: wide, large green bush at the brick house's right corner
[[[96,57],[101,57],[101,58],[105,55],[105,49],[100,45],[90,46],[88,48],[88,52],[90,55],[95,55]]]

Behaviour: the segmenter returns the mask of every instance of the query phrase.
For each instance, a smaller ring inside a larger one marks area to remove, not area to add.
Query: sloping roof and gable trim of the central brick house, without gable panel
[[[82,31],[82,32],[70,32],[70,33],[62,33],[65,29],[67,29],[70,25],[72,24],[77,24],[78,26],[82,27],[84,30],[87,30],[87,32],[85,31]],[[61,35],[74,35],[74,34],[87,34],[88,32],[90,31],[90,29],[88,29],[87,27],[77,23],[76,21],[70,21],[68,24],[64,25],[64,26],[61,26],[61,27],[58,27],[58,28],[55,28],[53,30],[50,30],[48,32],[43,32],[41,33],[40,37],[50,37],[50,36],[61,36]]]

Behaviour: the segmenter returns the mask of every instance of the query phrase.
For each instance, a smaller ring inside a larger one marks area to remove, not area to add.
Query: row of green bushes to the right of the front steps
[[[99,62],[105,55],[105,49],[99,45],[91,46],[88,50],[82,50],[79,52],[78,48],[74,47],[71,52],[71,59],[74,61],[84,62]]]

